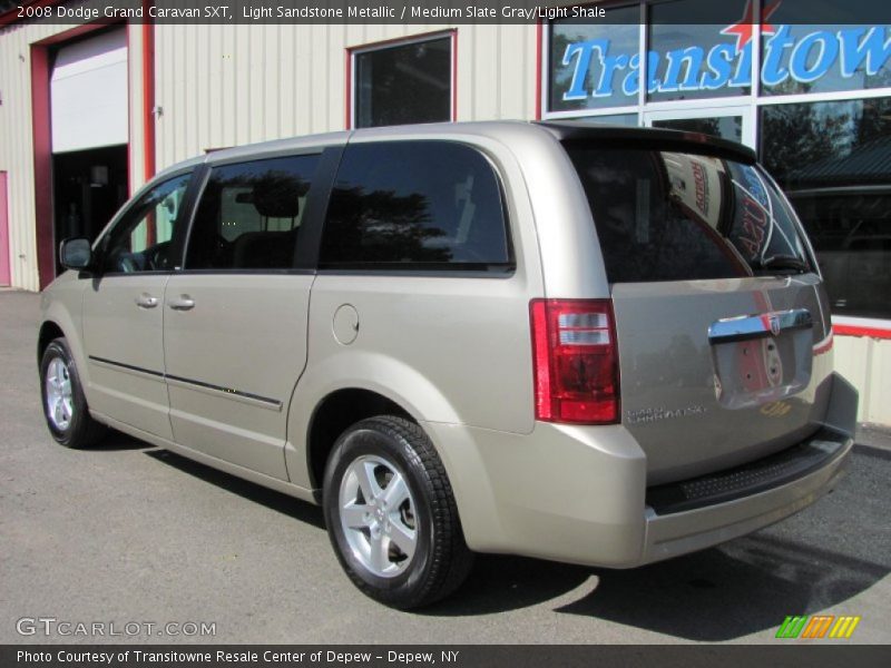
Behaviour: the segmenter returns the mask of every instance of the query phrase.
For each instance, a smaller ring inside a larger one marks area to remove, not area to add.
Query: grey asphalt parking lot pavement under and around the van
[[[0,293],[0,642],[770,644],[785,616],[815,613],[860,616],[849,642],[891,640],[889,432],[866,432],[834,493],[751,537],[628,571],[481,556],[456,596],[403,613],[347,581],[312,505],[118,434],[56,445],[38,304]],[[108,636],[128,622],[215,633]]]

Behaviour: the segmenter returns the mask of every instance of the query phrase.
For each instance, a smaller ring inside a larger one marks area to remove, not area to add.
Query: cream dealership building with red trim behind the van
[[[860,420],[891,425],[891,24],[864,22],[870,4],[78,22],[77,8],[105,6],[0,0],[0,286],[41,289],[60,239],[95,237],[155,173],[217,148],[491,119],[698,131],[755,149],[795,205],[830,293],[836,366],[860,391]]]

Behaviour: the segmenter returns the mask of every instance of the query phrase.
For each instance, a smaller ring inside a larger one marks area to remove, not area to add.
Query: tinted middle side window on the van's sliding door
[[[215,167],[195,214],[186,269],[290,269],[319,156]]]

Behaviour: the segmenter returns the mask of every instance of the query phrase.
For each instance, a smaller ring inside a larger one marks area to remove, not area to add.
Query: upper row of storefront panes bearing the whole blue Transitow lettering
[[[891,88],[891,24],[862,19],[875,16],[874,8],[864,14],[871,3],[652,0],[611,7],[609,23],[554,21],[547,111],[636,106],[644,59],[647,102],[746,96],[756,78],[764,96]],[[646,53],[639,43],[642,8]]]

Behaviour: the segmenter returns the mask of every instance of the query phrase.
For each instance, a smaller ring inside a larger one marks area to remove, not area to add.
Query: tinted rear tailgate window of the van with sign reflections
[[[610,283],[812,269],[794,213],[755,166],[666,150],[567,150]]]

